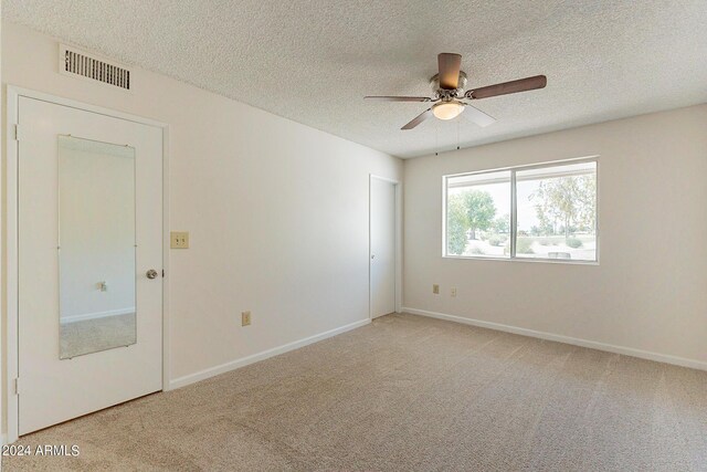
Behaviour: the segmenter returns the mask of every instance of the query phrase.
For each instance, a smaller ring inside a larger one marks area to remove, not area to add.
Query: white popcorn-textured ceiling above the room
[[[400,157],[707,102],[705,0],[3,0],[6,19]],[[469,86],[546,74],[477,101],[498,122],[400,127],[436,54]]]

